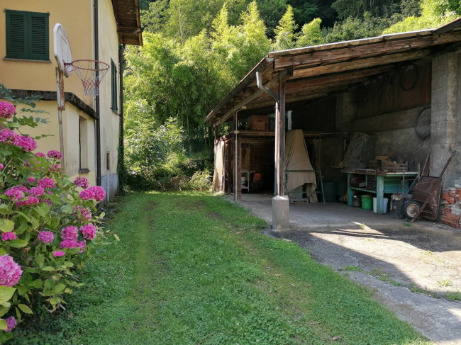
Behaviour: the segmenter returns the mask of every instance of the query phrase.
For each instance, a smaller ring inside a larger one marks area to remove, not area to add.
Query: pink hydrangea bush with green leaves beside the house
[[[1,88],[0,98],[11,100]],[[6,327],[0,344],[30,310],[63,307],[65,295],[81,285],[75,277],[85,258],[102,241],[96,224],[104,214],[96,206],[104,189],[82,176],[68,181],[56,162],[61,152],[33,153],[35,139],[18,134],[23,125],[36,123],[18,118],[12,101],[0,101],[0,296],[11,295],[0,300]]]

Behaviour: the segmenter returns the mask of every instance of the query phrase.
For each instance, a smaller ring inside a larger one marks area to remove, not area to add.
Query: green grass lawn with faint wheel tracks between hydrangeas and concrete
[[[14,344],[431,344],[265,226],[206,193],[132,194],[68,309]]]

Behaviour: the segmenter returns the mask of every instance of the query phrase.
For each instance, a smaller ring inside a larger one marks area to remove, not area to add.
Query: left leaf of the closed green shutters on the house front
[[[6,57],[27,59],[27,13],[6,10]]]

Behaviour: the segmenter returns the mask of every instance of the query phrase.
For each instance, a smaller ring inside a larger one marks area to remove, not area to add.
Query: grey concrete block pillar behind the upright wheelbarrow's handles
[[[458,84],[461,83],[459,52],[448,52],[433,59],[431,106],[431,176],[438,176],[457,144],[460,117]],[[459,154],[458,154],[459,156]],[[455,162],[444,175],[443,186],[451,186],[456,177]],[[459,174],[459,173],[458,173]],[[446,181],[446,182],[445,182]]]

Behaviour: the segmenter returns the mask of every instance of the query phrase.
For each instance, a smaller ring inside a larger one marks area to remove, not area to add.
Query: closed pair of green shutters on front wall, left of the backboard
[[[6,10],[6,58],[50,60],[48,13]]]

